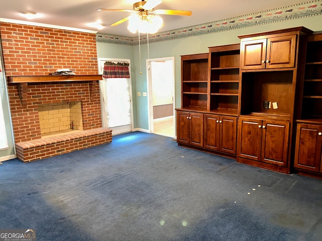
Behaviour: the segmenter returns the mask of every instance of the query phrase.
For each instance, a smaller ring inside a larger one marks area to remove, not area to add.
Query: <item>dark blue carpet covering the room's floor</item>
[[[321,240],[322,180],[134,132],[0,165],[0,228],[37,240]]]

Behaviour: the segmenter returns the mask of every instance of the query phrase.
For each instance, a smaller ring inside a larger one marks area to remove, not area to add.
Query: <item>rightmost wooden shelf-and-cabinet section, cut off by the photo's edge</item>
[[[293,171],[322,178],[322,34],[308,36],[304,47]]]

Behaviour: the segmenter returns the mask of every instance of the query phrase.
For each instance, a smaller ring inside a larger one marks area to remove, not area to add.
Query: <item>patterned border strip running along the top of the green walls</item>
[[[235,18],[194,25],[181,29],[174,29],[171,31],[159,32],[148,36],[143,35],[140,37],[140,44],[146,44],[147,40],[149,43],[163,42],[317,15],[322,15],[322,0],[305,2],[279,9],[272,9],[254,14],[238,16]],[[96,41],[102,43],[138,45],[138,40],[138,37],[117,36],[102,33],[96,34]]]

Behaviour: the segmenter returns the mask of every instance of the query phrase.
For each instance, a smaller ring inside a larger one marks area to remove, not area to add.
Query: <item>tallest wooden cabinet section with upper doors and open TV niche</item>
[[[290,172],[299,44],[306,28],[238,36],[237,162]]]

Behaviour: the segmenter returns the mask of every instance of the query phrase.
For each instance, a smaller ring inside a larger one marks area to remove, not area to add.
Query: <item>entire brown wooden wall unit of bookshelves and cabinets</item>
[[[322,34],[238,38],[181,56],[178,145],[322,178]]]

